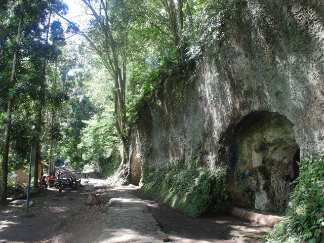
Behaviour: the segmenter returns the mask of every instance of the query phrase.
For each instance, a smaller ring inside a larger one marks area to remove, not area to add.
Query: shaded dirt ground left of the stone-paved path
[[[69,172],[66,172],[69,176]],[[85,183],[83,183],[86,185]],[[93,187],[86,187],[95,191]],[[86,194],[80,191],[58,197],[58,189],[46,190],[45,196],[31,197],[30,213],[35,217],[22,218],[26,200],[14,200],[0,208],[0,243],[12,242],[97,242],[107,202],[85,206]]]

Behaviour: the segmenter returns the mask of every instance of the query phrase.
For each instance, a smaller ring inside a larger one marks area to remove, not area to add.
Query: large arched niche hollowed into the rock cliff
[[[298,177],[300,149],[284,115],[255,112],[237,125],[229,188],[234,204],[282,213]]]

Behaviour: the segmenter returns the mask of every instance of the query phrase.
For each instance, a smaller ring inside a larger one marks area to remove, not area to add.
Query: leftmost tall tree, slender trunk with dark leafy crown
[[[18,98],[17,93],[19,90],[23,90],[24,88],[19,87],[20,83],[23,83],[21,80],[19,85],[17,86],[15,83],[18,81],[17,77],[24,77],[28,75],[28,64],[29,59],[31,57],[30,53],[35,51],[36,48],[34,46],[35,40],[42,38],[42,22],[44,18],[44,11],[48,7],[48,2],[39,2],[37,0],[31,1],[14,1],[12,3],[8,3],[8,11],[11,14],[7,14],[8,20],[5,21],[4,25],[7,25],[7,28],[12,28],[12,25],[18,25],[18,33],[16,38],[12,38],[11,34],[13,31],[7,31],[7,36],[5,36],[5,43],[9,46],[13,46],[14,50],[14,60],[11,64],[11,77],[10,77],[10,85],[8,89],[8,95],[6,99],[8,100],[7,106],[7,120],[6,120],[6,129],[5,129],[5,139],[4,139],[4,146],[3,146],[3,159],[4,163],[3,167],[4,170],[3,180],[2,180],[2,203],[6,201],[6,193],[7,190],[7,177],[8,177],[8,160],[9,160],[9,146],[10,146],[10,136],[12,133],[17,133],[18,131],[11,131],[11,124],[12,124],[12,110],[14,105],[14,98]],[[19,21],[18,21],[19,20]],[[19,44],[17,44],[17,39]],[[6,49],[6,47],[4,47]],[[25,62],[25,63],[24,63]],[[24,67],[25,66],[25,67]],[[19,67],[19,71],[18,71]],[[19,72],[23,72],[20,74]]]

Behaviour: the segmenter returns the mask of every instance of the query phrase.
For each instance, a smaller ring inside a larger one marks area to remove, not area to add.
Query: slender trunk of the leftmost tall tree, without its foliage
[[[19,19],[17,42],[20,41],[22,19]],[[12,70],[10,76],[10,87],[15,85],[16,78],[16,63],[17,63],[17,51],[14,53],[14,59],[12,63]],[[1,185],[0,185],[0,204],[5,205],[7,202],[7,186],[8,186],[8,157],[9,157],[9,144],[10,144],[10,129],[11,129],[11,111],[12,111],[13,99],[9,97],[7,107],[7,121],[4,138],[3,158],[2,158],[2,173],[1,173]]]

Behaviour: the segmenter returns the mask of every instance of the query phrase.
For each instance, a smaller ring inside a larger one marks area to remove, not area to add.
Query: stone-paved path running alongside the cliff
[[[99,243],[165,242],[166,234],[160,229],[144,202],[123,187],[91,180],[97,192],[110,198],[108,217],[103,224]]]

